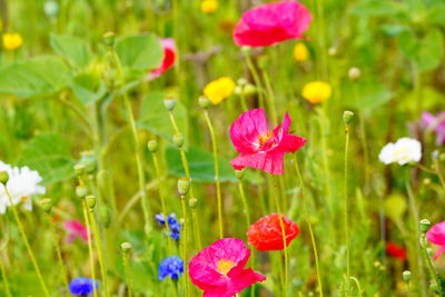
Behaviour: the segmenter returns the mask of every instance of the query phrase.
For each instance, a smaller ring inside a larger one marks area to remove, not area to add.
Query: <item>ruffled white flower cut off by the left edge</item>
[[[0,171],[7,171],[9,174],[9,180],[7,188],[11,195],[12,202],[18,205],[23,204],[23,208],[32,210],[31,196],[42,195],[46,188],[39,186],[42,181],[39,172],[29,169],[28,167],[12,167],[8,164],[0,161]],[[4,187],[0,186],[0,214],[4,214],[7,207],[11,206]]]

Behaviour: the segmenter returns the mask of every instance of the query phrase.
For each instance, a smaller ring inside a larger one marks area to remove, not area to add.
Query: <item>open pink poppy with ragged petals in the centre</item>
[[[238,117],[230,127],[230,138],[240,154],[230,165],[240,170],[244,167],[261,169],[273,175],[284,172],[284,155],[296,151],[306,139],[289,133],[290,118],[286,113],[283,126],[274,130],[267,127],[263,109],[251,109]]]

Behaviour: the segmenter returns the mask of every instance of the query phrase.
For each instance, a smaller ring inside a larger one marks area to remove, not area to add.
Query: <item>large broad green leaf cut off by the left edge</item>
[[[59,58],[43,56],[0,69],[0,92],[20,98],[44,97],[67,86],[69,69]]]

